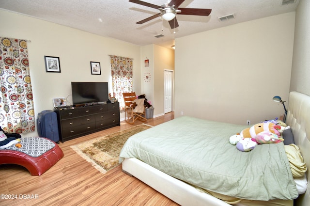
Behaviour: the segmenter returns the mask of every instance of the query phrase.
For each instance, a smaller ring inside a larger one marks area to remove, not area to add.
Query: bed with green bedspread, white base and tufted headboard
[[[286,123],[306,165],[309,116],[310,97],[291,92]],[[183,206],[309,206],[309,189],[299,195],[283,143],[261,144],[250,152],[227,145],[246,127],[176,118],[129,138],[120,154],[123,171]],[[305,176],[309,181],[308,171]]]

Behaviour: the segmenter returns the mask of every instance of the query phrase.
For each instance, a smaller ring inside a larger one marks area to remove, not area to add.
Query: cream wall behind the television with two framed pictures
[[[110,81],[109,54],[133,58],[134,90],[141,92],[140,47],[62,25],[0,10],[0,36],[27,39],[35,116],[52,110],[53,97],[68,97],[71,81]],[[45,71],[44,56],[60,57],[61,73]],[[100,62],[92,75],[90,62]],[[123,113],[121,113],[121,118]],[[24,136],[37,136],[37,132]]]

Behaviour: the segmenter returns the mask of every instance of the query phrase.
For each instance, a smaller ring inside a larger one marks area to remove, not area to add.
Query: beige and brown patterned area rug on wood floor
[[[138,125],[93,140],[71,146],[81,157],[105,174],[119,165],[119,155],[126,140],[132,135],[151,128],[149,125]]]

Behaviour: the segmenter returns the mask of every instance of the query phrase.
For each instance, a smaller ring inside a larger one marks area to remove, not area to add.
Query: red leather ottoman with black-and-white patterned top
[[[11,145],[0,149],[0,164],[18,164],[39,176],[63,157],[62,149],[47,138],[24,137],[20,143],[21,148]]]

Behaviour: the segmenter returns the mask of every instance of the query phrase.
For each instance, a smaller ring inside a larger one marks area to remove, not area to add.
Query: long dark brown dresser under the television
[[[110,127],[120,126],[119,102],[87,107],[55,108],[60,141],[72,140]]]

